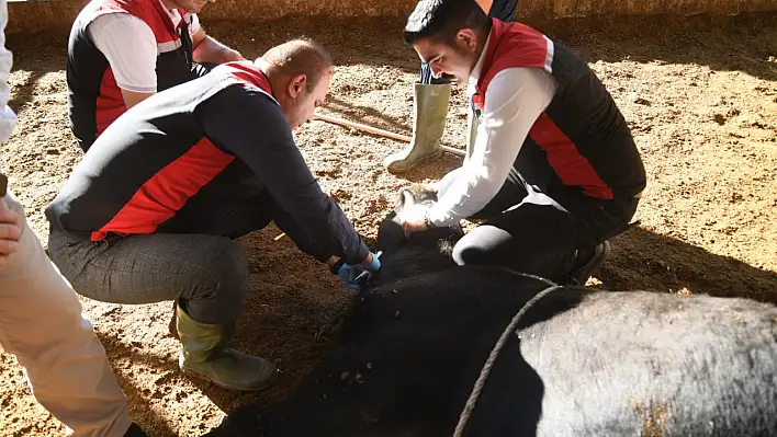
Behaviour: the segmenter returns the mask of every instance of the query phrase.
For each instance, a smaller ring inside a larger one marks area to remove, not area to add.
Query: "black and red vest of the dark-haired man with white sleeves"
[[[626,119],[585,61],[531,27],[498,20],[492,20],[485,50],[472,99],[477,110],[504,69],[540,68],[558,82],[514,163],[520,177],[560,198],[578,193],[612,200],[644,189],[644,166]]]

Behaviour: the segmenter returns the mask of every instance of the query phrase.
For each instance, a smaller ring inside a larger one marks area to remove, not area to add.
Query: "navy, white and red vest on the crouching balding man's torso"
[[[193,108],[235,85],[245,94],[266,94],[272,111],[281,111],[264,73],[251,61],[224,64],[199,83],[154,95],[95,140],[48,207],[52,228],[92,241],[148,234],[183,220],[181,215],[190,218],[187,223],[191,217],[209,216],[214,197],[234,197],[241,177],[254,172],[205,136]],[[223,111],[239,111],[239,104],[254,99],[263,100],[244,95],[236,107]],[[236,143],[240,135],[235,133]]]

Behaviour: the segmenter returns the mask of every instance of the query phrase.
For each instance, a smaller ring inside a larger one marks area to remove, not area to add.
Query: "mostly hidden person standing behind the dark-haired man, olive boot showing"
[[[518,0],[475,0],[488,16],[511,22]],[[446,130],[446,117],[451,97],[451,79],[435,78],[428,64],[421,62],[420,78],[414,85],[413,138],[399,151],[387,156],[383,165],[392,173],[403,173],[442,153],[440,140]]]

